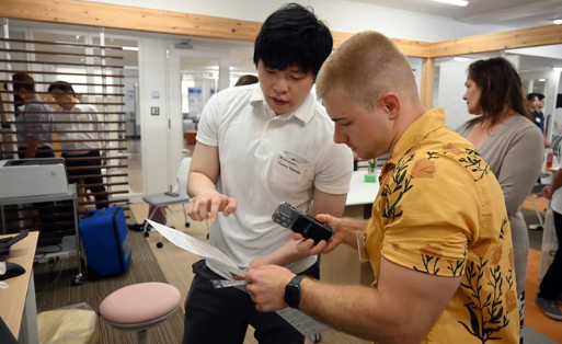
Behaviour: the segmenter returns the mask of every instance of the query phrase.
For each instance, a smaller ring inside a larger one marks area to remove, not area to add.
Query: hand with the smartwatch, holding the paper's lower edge
[[[245,291],[250,294],[255,309],[261,312],[274,312],[287,308],[285,287],[295,274],[276,265],[252,268],[245,274]]]

